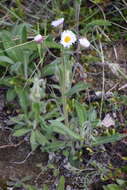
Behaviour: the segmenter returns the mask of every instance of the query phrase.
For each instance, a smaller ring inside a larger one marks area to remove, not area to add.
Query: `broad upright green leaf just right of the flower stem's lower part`
[[[87,111],[85,105],[75,102],[76,112],[78,115],[79,123],[83,126],[84,122],[87,121]]]

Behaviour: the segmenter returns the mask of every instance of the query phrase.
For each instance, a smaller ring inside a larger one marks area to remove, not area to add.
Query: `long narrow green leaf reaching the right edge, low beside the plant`
[[[93,146],[98,146],[101,144],[106,144],[106,143],[113,143],[116,141],[119,141],[126,137],[127,134],[115,134],[111,136],[101,136],[101,137],[95,137],[95,140],[92,142]]]

